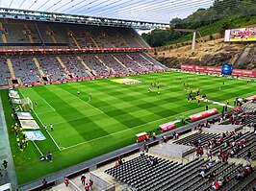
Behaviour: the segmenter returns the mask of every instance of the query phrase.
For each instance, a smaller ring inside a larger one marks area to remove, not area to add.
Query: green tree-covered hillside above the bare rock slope
[[[216,0],[209,9],[199,9],[185,19],[174,18],[170,24],[177,29],[198,29],[201,36],[222,35],[226,29],[256,24],[255,10],[255,0]],[[192,34],[157,29],[142,37],[157,47],[191,40]]]

